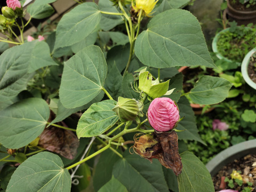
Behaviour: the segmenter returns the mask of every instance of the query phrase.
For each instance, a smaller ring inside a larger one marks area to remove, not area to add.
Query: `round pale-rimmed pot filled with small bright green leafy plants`
[[[237,26],[221,30],[212,41],[212,50],[219,59],[230,64],[230,69],[241,66],[244,56],[256,45],[256,28]]]

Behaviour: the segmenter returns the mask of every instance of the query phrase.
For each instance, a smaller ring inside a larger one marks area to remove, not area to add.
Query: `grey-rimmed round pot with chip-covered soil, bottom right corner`
[[[253,189],[256,187],[255,182],[254,183],[249,183],[248,182],[252,181],[250,178],[255,177],[255,173],[251,173],[250,170],[253,170],[253,162],[250,161],[249,168],[247,166],[241,167],[239,169],[239,164],[245,164],[243,163],[248,161],[252,155],[255,154],[256,150],[256,139],[254,140],[249,140],[249,141],[244,141],[241,143],[238,143],[237,145],[231,146],[216,155],[212,160],[206,164],[207,169],[211,173],[213,180],[215,182],[218,182],[218,184],[215,183],[215,190],[220,190],[220,189],[231,189],[233,186],[239,187],[242,186],[242,183],[246,183],[246,188],[248,189]],[[238,165],[235,165],[238,162]],[[240,159],[240,160],[239,160]],[[237,172],[239,169],[239,172]],[[218,173],[219,172],[219,173]],[[237,177],[234,177],[234,173],[238,175],[239,179],[242,181],[236,180]],[[225,175],[224,175],[225,174]],[[227,175],[231,175],[231,178],[227,177]],[[217,178],[215,178],[217,177]],[[226,178],[226,179],[225,179]],[[233,180],[234,179],[234,180]],[[234,182],[240,182],[239,185],[234,185]],[[251,188],[250,188],[251,187]],[[239,191],[242,191],[241,188],[239,188]],[[237,190],[237,189],[234,189]],[[246,190],[246,191],[251,191],[251,190]],[[243,190],[245,191],[245,190]]]

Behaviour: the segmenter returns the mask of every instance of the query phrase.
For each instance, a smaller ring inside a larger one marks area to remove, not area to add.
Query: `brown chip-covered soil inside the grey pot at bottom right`
[[[239,186],[237,182],[233,182],[234,188],[231,188],[228,186],[229,182],[225,182],[223,177],[230,180],[230,174],[233,172],[233,170],[241,172],[243,183],[241,186]],[[256,154],[246,155],[240,159],[235,159],[233,162],[227,164],[226,166],[223,166],[222,169],[212,178],[212,180],[214,183],[215,191],[222,189],[234,189],[242,191],[244,188],[249,186],[247,182],[251,183],[251,186],[249,187],[251,187],[252,190],[250,191],[256,191]]]

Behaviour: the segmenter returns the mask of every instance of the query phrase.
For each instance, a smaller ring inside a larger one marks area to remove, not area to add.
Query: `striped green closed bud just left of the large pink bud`
[[[139,113],[139,106],[135,99],[118,97],[116,106],[112,109],[122,122],[135,119]]]

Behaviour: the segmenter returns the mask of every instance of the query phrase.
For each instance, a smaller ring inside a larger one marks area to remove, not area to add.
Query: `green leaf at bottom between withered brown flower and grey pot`
[[[180,192],[214,192],[211,175],[205,165],[192,153],[185,151],[181,155],[182,172],[178,175]]]

